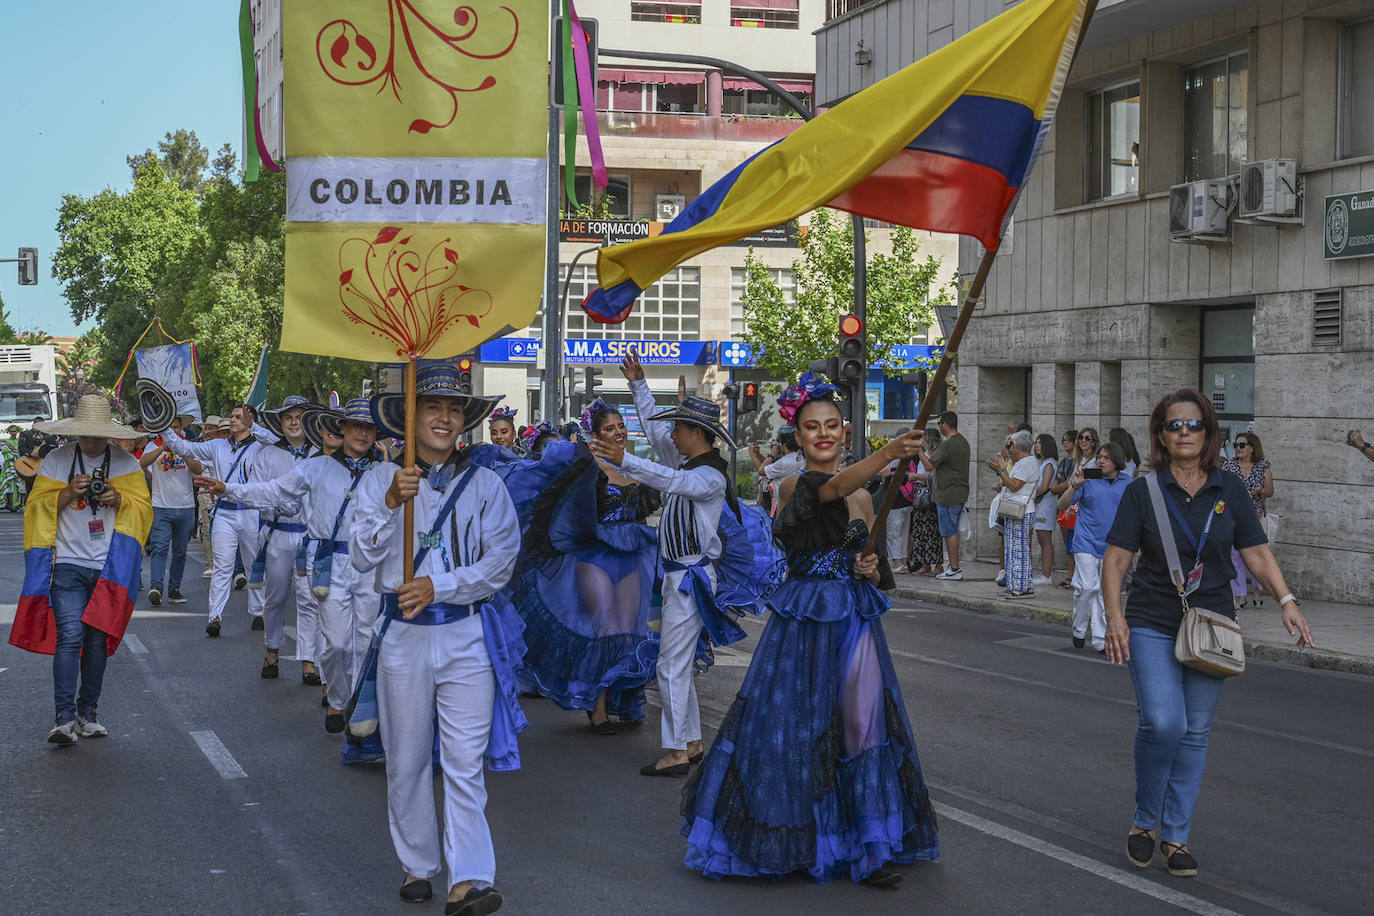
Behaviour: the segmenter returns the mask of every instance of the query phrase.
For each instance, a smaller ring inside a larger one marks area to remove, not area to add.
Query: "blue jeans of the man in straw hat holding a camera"
[[[58,725],[70,722],[80,711],[89,713],[100,702],[104,681],[104,632],[81,622],[91,592],[100,580],[99,570],[58,563],[52,567],[51,604],[58,625],[58,648],[52,654],[52,698],[58,707]],[[77,674],[81,696],[77,698]]]

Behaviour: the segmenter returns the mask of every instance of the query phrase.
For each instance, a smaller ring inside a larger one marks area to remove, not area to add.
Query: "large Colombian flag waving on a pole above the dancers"
[[[683,261],[819,206],[996,250],[1092,3],[1024,0],[808,121],[708,188],[662,235],[602,249],[600,288],[583,309],[624,321]]]

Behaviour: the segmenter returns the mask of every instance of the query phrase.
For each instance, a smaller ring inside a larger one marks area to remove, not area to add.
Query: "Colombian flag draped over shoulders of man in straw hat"
[[[129,618],[133,617],[133,596],[139,591],[139,573],[143,569],[143,545],[153,527],[153,500],[143,471],[111,477],[110,483],[124,500],[114,518],[114,534],[110,537],[110,552],[104,559],[100,581],[96,582],[81,619],[109,636],[106,654],[114,655],[129,626]],[[58,648],[58,626],[48,599],[54,544],[58,540],[58,493],[65,486],[66,481],[44,477],[40,471],[23,511],[23,588],[14,626],[10,629],[10,644],[43,655],[52,655]],[[63,511],[74,512],[77,507]]]

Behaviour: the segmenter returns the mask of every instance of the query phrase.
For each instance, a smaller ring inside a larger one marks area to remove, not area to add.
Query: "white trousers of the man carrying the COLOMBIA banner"
[[[495,698],[481,617],[438,626],[392,621],[376,662],[386,812],[396,856],[415,878],[434,878],[448,860],[448,887],[496,880],[482,779]],[[442,857],[431,770],[436,713],[444,769]]]

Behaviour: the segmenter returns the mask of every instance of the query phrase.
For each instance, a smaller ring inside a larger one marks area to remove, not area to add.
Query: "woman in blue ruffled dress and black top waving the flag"
[[[790,578],[702,766],[683,792],[686,864],[708,878],[807,872],[892,884],[889,862],[940,854],[915,739],[881,615],[864,482],[915,455],[919,433],[840,470],[837,391],[809,372],[782,398],[807,470],[789,478],[774,533]]]

